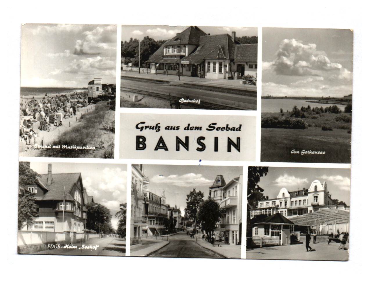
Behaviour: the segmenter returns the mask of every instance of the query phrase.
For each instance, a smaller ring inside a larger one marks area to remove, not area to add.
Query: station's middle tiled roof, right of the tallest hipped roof
[[[215,59],[220,52],[219,49],[223,52],[223,57],[220,59],[233,59],[234,45],[236,44],[233,43],[229,34],[201,36],[199,44],[200,46],[192,54],[183,58],[183,60],[199,64],[208,57],[209,59]]]

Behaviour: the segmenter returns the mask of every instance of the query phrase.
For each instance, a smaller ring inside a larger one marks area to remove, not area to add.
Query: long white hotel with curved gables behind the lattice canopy
[[[276,198],[269,199],[267,196],[265,200],[260,200],[258,208],[250,210],[250,218],[261,214],[270,216],[276,212],[291,218],[327,208],[349,210],[349,207],[333,205],[327,183],[321,184],[319,180],[314,180],[307,189],[304,187],[301,190],[288,191],[283,187]]]

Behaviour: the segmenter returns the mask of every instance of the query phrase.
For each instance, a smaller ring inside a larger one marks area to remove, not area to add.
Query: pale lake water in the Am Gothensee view
[[[294,98],[262,98],[261,99],[261,112],[279,112],[282,108],[283,111],[291,111],[294,106],[297,108],[307,107],[328,107],[333,104],[328,103],[314,103],[311,100],[297,100]],[[336,104],[342,111],[345,109],[345,105]]]

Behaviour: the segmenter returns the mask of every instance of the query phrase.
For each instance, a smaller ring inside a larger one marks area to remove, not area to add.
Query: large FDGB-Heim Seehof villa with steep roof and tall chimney
[[[85,204],[93,202],[93,197],[87,195],[81,173],[53,174],[49,164],[48,173],[41,174],[37,183],[22,188],[34,194],[38,214],[33,225],[28,229],[25,225],[22,230],[83,233]]]

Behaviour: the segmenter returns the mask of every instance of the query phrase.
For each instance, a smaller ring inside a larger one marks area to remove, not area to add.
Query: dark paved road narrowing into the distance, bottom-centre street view
[[[169,237],[170,243],[149,257],[185,257],[185,258],[216,258],[222,257],[207,250],[191,239],[186,232]]]

